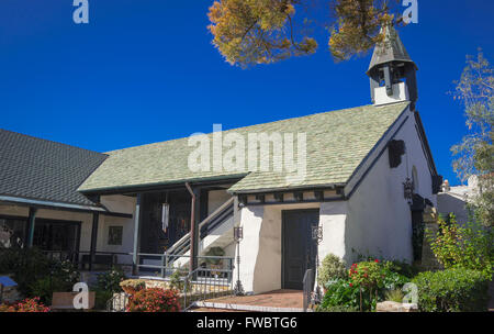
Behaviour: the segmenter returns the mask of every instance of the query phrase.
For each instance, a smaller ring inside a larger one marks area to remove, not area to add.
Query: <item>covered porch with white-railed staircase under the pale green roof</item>
[[[211,263],[212,248],[221,248],[218,260],[234,255],[234,198],[226,191],[232,180],[181,182],[161,187],[139,187],[119,193],[99,193],[102,199],[117,194],[134,202],[128,241],[134,277],[168,278],[180,269],[182,275]],[[215,250],[215,249],[213,249]],[[214,252],[213,252],[214,253]]]

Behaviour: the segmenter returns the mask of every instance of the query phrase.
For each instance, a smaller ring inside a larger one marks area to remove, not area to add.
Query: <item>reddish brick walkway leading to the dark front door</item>
[[[303,309],[303,292],[299,290],[276,290],[256,296],[227,296],[205,300],[209,305],[227,305],[227,309],[238,307],[276,308],[276,309]],[[218,307],[222,309],[221,307]],[[254,310],[252,310],[254,311]]]

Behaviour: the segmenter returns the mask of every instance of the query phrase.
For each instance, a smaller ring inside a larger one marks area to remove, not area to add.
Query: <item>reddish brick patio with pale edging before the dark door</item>
[[[256,296],[227,296],[209,299],[198,307],[223,311],[302,312],[303,292],[299,290],[276,290]]]

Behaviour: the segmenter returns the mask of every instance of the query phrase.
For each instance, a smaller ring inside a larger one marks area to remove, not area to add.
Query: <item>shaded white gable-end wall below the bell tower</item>
[[[408,120],[394,137],[406,145],[402,164],[390,168],[386,149],[348,201],[347,261],[355,260],[358,254],[412,261],[412,214],[402,183],[407,176],[412,178],[413,166],[418,175],[415,192],[435,205],[437,203],[431,175],[415,130],[415,118],[412,112],[407,114]]]

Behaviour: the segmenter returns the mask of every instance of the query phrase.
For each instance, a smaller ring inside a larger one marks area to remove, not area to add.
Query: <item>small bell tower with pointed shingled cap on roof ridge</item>
[[[418,98],[415,63],[409,57],[396,30],[389,24],[381,29],[384,38],[375,45],[367,75],[370,77],[372,103],[382,105]]]

